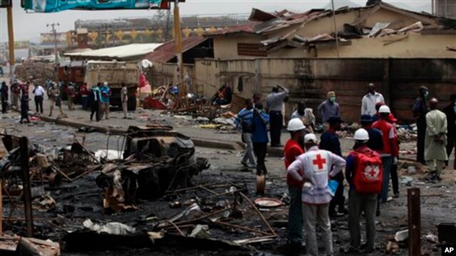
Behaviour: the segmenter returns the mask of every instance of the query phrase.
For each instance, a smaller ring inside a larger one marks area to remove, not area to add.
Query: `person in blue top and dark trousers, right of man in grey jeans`
[[[268,173],[264,160],[268,148],[268,128],[269,115],[264,113],[263,105],[257,103],[253,111],[252,119],[252,143],[254,146],[254,154],[257,156],[257,176]]]

